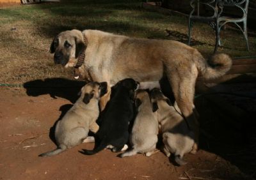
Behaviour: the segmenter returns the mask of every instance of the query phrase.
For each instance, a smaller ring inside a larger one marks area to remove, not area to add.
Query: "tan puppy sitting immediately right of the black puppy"
[[[158,121],[157,113],[152,112],[152,106],[147,91],[139,89],[135,100],[138,114],[134,120],[130,137],[131,151],[120,154],[120,157],[132,156],[137,153],[145,153],[151,156],[156,149]]]

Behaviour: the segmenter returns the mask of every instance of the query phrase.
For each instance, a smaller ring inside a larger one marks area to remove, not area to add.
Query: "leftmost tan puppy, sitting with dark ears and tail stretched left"
[[[106,82],[90,82],[81,89],[81,96],[58,121],[55,129],[55,139],[58,148],[39,156],[52,156],[68,148],[81,144],[88,137],[89,130],[96,133],[99,126],[96,120],[99,116],[99,99],[106,94]]]

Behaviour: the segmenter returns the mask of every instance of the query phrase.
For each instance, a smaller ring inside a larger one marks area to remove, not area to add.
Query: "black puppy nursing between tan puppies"
[[[99,119],[101,125],[95,135],[95,148],[83,149],[81,153],[95,154],[105,147],[113,148],[113,152],[121,151],[129,140],[128,128],[134,115],[134,91],[138,84],[133,79],[124,79],[113,87],[113,96]]]

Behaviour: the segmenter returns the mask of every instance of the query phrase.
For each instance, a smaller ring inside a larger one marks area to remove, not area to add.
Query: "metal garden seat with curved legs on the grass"
[[[247,12],[249,0],[191,0],[190,1],[192,10],[189,14],[188,19],[188,44],[191,41],[191,29],[193,22],[207,22],[214,28],[216,35],[216,42],[214,52],[218,49],[220,45],[220,31],[221,27],[225,24],[232,22],[236,24],[237,27],[242,31],[244,39],[246,41],[246,48],[249,51],[248,36],[247,36]],[[223,16],[223,9],[225,6],[234,6],[241,10],[241,17],[227,17]],[[200,10],[204,10],[204,15],[200,14]],[[208,13],[207,13],[208,12]],[[241,22],[243,25],[239,25]]]

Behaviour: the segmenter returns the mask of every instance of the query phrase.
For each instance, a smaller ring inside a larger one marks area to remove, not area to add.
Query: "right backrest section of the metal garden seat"
[[[247,17],[249,0],[217,0],[217,1],[218,1],[218,8],[219,8],[218,15],[221,15],[221,13],[223,13],[223,8],[225,6],[229,6],[229,7],[237,7],[243,13],[243,18]]]

